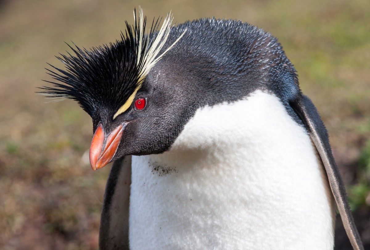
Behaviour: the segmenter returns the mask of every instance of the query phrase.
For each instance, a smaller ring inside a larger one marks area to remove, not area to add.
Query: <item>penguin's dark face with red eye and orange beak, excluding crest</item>
[[[109,107],[97,111],[101,118],[93,122],[90,146],[93,169],[125,155],[162,153],[174,143],[198,105],[186,77],[173,68],[167,70],[166,65],[168,61],[163,60],[150,71],[123,113],[109,119],[104,115],[114,117]]]

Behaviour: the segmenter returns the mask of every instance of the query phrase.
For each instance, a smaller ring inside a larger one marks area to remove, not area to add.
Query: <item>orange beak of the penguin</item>
[[[92,170],[100,169],[110,163],[120,144],[124,128],[125,126],[120,124],[106,135],[102,125],[99,124],[90,145],[89,156]]]

